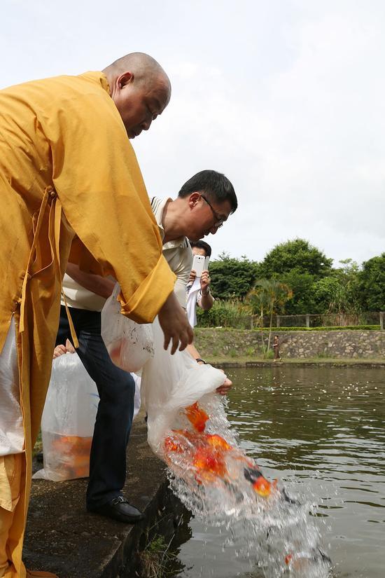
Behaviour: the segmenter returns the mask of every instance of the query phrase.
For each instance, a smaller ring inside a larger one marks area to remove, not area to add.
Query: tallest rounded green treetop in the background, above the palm
[[[310,245],[304,239],[288,240],[276,245],[260,264],[262,275],[281,278],[295,269],[297,274],[312,275],[314,280],[326,277],[331,270],[332,259]]]

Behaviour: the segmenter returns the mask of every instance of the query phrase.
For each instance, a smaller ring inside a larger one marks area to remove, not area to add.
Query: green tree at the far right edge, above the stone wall
[[[367,311],[385,311],[385,253],[363,263],[358,284],[363,308]]]

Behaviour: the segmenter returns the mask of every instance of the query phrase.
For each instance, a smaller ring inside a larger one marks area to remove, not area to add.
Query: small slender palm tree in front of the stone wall
[[[253,313],[260,314],[260,326],[263,327],[263,315],[270,316],[269,338],[267,340],[267,349],[262,338],[262,348],[264,355],[268,355],[270,342],[272,338],[273,315],[276,310],[282,307],[286,301],[293,297],[293,291],[285,283],[276,279],[260,279],[255,282],[255,286],[246,296],[246,301],[251,306]]]

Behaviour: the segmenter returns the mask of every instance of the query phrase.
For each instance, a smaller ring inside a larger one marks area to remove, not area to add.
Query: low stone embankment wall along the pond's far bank
[[[385,331],[273,331],[286,358],[379,359],[385,357]],[[260,357],[268,332],[247,329],[196,328],[202,357]]]

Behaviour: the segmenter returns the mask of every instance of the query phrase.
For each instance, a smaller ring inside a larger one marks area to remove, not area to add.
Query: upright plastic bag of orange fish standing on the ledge
[[[41,419],[43,469],[35,479],[64,481],[89,475],[98,404],[97,387],[78,355],[54,359]]]

